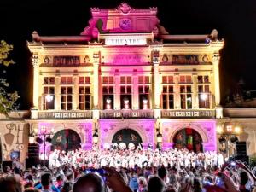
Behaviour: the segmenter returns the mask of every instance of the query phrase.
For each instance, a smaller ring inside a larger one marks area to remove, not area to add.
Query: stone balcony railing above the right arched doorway
[[[161,110],[162,118],[215,118],[215,109]]]

